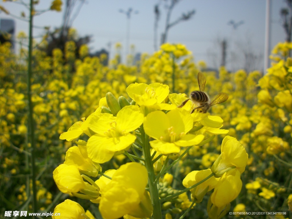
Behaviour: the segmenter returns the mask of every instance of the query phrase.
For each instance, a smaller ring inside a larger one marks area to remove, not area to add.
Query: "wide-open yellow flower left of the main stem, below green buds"
[[[88,124],[95,132],[87,142],[88,157],[97,163],[109,161],[115,152],[126,150],[136,139],[130,132],[136,130],[143,122],[143,113],[138,106],[125,106],[117,113],[101,113],[93,116]]]

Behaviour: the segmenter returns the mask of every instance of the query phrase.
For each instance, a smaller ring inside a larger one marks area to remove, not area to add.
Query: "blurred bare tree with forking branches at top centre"
[[[175,21],[170,22],[170,17],[171,17],[171,13],[172,13],[173,8],[181,0],[164,0],[164,1],[166,2],[166,5],[165,5],[165,8],[166,8],[166,22],[165,22],[164,32],[161,34],[161,44],[164,44],[166,42],[167,36],[168,36],[168,31],[169,31],[169,29],[171,27],[173,27],[174,25],[177,25],[181,21],[186,21],[186,20],[191,19],[192,16],[195,14],[195,10],[192,10],[192,11],[189,11],[187,13],[183,13]]]

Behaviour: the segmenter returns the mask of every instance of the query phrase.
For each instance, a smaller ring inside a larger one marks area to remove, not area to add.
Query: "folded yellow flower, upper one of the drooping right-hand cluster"
[[[233,167],[243,173],[247,164],[248,154],[244,147],[231,136],[226,136],[221,145],[221,154],[211,167],[217,177]]]

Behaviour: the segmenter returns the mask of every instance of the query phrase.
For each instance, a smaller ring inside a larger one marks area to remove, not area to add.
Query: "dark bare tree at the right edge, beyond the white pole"
[[[282,8],[280,11],[281,18],[283,20],[283,28],[286,33],[286,41],[291,42],[292,31],[292,0],[285,0],[287,8]]]

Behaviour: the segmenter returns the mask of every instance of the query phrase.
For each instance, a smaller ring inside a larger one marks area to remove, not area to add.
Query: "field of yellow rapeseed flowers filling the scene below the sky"
[[[264,75],[206,71],[181,44],[127,65],[65,48],[32,53],[32,152],[28,51],[0,45],[0,218],[292,218],[291,43]],[[211,101],[229,96],[206,113],[186,101],[198,72]]]

